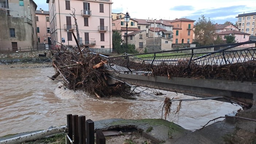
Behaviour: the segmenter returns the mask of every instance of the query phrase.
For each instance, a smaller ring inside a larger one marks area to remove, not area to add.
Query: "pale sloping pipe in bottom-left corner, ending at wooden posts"
[[[18,144],[18,143],[23,143],[25,141],[37,140],[45,136],[64,132],[64,130],[66,129],[67,129],[67,126],[63,125],[61,127],[51,128],[51,129],[47,129],[40,132],[30,133],[24,136],[14,137],[12,139],[2,140],[0,141],[0,144]]]

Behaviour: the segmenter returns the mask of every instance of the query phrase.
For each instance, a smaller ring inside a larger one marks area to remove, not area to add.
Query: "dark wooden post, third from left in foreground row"
[[[85,116],[78,117],[78,131],[79,131],[79,144],[86,143],[86,135],[85,135]]]

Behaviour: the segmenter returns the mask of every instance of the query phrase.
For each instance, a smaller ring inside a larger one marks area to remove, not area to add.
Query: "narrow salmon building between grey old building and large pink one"
[[[50,17],[49,11],[36,10],[36,32],[39,45],[51,45]]]

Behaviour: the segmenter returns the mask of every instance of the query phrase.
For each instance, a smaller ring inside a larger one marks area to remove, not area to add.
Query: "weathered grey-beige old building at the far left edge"
[[[36,48],[36,8],[33,0],[0,0],[0,50]]]

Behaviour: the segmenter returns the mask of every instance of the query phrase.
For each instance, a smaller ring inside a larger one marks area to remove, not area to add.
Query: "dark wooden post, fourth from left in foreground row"
[[[86,120],[86,144],[94,144],[94,122]]]

